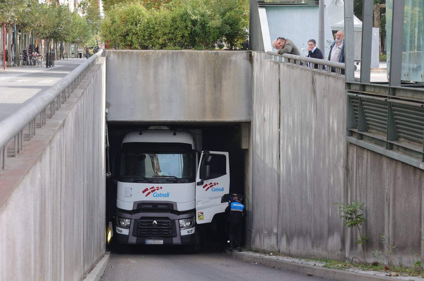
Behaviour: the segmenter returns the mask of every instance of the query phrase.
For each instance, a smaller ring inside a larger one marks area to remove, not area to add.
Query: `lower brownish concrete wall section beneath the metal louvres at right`
[[[348,198],[365,202],[367,260],[374,260],[373,251],[387,251],[384,235],[398,249],[396,262],[402,258],[403,264],[413,266],[414,260],[423,261],[424,171],[353,144],[347,152]],[[347,234],[346,255],[362,256],[354,243],[357,232]]]

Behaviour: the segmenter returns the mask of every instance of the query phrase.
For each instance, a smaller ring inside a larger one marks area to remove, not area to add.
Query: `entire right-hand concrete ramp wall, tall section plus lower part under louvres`
[[[333,205],[358,200],[365,203],[367,262],[381,262],[377,251],[387,252],[381,235],[398,249],[396,262],[413,267],[423,260],[424,171],[347,144],[343,77],[260,52],[252,52],[252,61],[249,245],[291,256],[363,259],[357,230],[346,230]]]

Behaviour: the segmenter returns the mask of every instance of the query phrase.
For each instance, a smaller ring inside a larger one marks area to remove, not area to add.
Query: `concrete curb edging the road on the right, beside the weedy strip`
[[[229,252],[227,254],[229,254]],[[387,280],[397,279],[397,278],[390,278],[385,276],[357,273],[357,272],[352,272],[347,270],[337,270],[337,269],[326,268],[326,267],[318,267],[318,266],[313,266],[309,264],[298,264],[296,262],[286,262],[286,261],[279,261],[275,259],[267,259],[266,257],[251,256],[243,252],[232,252],[231,256],[237,259],[242,259],[249,262],[257,262],[258,264],[264,264],[264,265],[268,265],[268,266],[283,269],[283,270],[304,273],[305,275],[309,272],[310,274],[314,276],[326,278],[329,280],[335,280],[335,281],[358,281],[358,280],[387,281]]]

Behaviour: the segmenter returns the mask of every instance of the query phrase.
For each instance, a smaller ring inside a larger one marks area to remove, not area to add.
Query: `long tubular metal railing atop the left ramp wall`
[[[66,102],[90,68],[98,62],[102,52],[100,49],[59,82],[0,121],[0,172],[6,167],[6,159],[17,156],[22,151],[23,142],[31,140],[36,128],[45,125],[47,118],[52,118]]]

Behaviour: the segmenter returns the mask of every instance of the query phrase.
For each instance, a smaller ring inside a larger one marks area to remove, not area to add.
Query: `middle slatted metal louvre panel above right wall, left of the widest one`
[[[362,98],[368,131],[387,132],[387,102]]]

